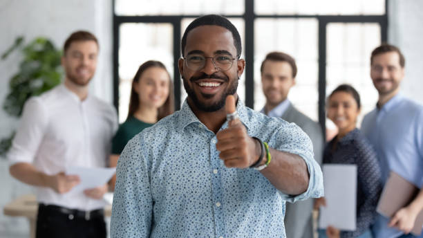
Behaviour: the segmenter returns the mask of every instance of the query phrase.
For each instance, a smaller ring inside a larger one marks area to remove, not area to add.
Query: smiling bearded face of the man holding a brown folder
[[[400,55],[395,51],[375,55],[370,67],[370,77],[379,95],[395,95],[404,77]]]

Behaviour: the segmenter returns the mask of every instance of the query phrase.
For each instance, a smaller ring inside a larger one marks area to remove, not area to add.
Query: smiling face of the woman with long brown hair
[[[169,96],[169,73],[164,68],[147,68],[138,82],[133,82],[133,89],[138,93],[140,107],[162,107]]]

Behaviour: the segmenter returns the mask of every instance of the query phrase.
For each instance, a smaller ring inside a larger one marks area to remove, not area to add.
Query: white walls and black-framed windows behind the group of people
[[[326,95],[341,83],[355,86],[365,113],[375,107],[377,91],[370,80],[370,52],[388,42],[406,58],[401,92],[423,104],[423,1],[420,0],[0,0],[0,53],[15,39],[43,36],[57,48],[75,30],[89,30],[100,42],[97,72],[90,93],[115,104],[119,120],[127,114],[131,80],[146,60],[167,66],[175,86],[176,108],[185,99],[178,69],[180,37],[192,19],[220,14],[238,28],[247,65],[238,95],[260,110],[260,65],[270,51],[297,60],[297,85],[288,98],[310,118],[325,124]],[[19,68],[19,53],[0,60],[0,103],[10,77]],[[360,120],[361,120],[360,118]],[[0,110],[0,138],[9,136],[19,120]],[[358,124],[359,125],[359,124]],[[31,188],[11,178],[0,158],[0,206]],[[28,221],[0,214],[0,237],[28,237]]]

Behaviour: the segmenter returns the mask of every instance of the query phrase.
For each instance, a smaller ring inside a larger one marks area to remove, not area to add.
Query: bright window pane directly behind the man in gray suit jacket
[[[261,110],[265,104],[261,62],[267,53],[282,51],[294,57],[298,68],[297,84],[290,90],[288,98],[297,109],[317,121],[317,19],[256,19],[254,27],[254,109]]]

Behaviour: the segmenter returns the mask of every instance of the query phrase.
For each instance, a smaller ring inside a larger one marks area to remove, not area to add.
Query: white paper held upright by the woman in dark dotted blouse
[[[319,228],[355,230],[357,216],[357,165],[323,165],[326,207],[321,206]]]

